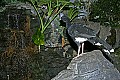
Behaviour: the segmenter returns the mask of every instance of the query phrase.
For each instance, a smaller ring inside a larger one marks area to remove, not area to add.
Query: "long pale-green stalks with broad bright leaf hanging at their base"
[[[68,4],[68,2],[64,2],[63,1],[63,5],[59,8],[59,10],[57,11],[57,13],[52,17],[52,14],[54,13],[54,8],[52,8],[53,3],[51,3],[52,1],[49,1],[48,5],[48,19],[43,22],[43,18],[41,17],[41,15],[39,14],[38,8],[35,6],[34,1],[31,0],[31,4],[33,5],[35,11],[37,12],[38,18],[40,20],[40,27],[37,29],[36,33],[32,36],[32,40],[34,41],[34,43],[38,46],[40,45],[44,45],[44,31],[46,30],[46,28],[52,23],[52,21],[59,15],[59,13],[62,11],[62,9],[66,6],[66,4]],[[57,2],[57,6],[60,3]],[[52,19],[50,20],[50,18],[52,17]]]

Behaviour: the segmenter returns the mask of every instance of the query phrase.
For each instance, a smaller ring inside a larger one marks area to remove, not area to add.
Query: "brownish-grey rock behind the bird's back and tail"
[[[97,36],[106,40],[114,49],[120,47],[120,28],[112,28],[109,26],[102,26],[100,23],[89,21],[89,28],[95,30]]]

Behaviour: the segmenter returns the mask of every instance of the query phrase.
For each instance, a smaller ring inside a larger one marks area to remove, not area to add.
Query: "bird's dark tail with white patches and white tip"
[[[104,47],[104,49],[103,49],[104,52],[107,52],[107,53],[114,52],[114,49],[112,48],[112,46],[109,45],[103,39],[100,39],[98,37],[93,37],[93,38],[90,38],[88,41],[91,42],[93,45]]]

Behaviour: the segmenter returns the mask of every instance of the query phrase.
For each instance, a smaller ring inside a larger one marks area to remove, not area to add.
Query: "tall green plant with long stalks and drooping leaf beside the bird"
[[[38,12],[38,8],[36,7],[34,1],[31,0],[31,4],[33,5],[35,11],[37,12],[38,18],[40,20],[40,26],[37,29],[36,33],[33,35],[32,39],[34,43],[38,46],[44,45],[44,31],[47,27],[50,26],[51,22],[57,17],[57,15],[61,12],[63,7],[68,3],[66,1],[62,2],[63,5],[60,5],[61,2],[58,0],[56,1],[56,6],[52,6],[51,0],[49,0],[49,3],[46,1],[47,4],[47,11],[43,11],[43,15],[40,15]],[[40,3],[37,3],[40,4]],[[44,3],[45,4],[45,3]],[[43,21],[44,18],[47,18],[46,21]]]

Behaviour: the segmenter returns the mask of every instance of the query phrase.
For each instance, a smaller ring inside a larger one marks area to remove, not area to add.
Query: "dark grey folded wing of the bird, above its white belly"
[[[85,27],[81,24],[73,24],[68,28],[68,34],[71,37],[83,37],[83,38],[91,38],[95,37],[96,33],[94,30]]]

